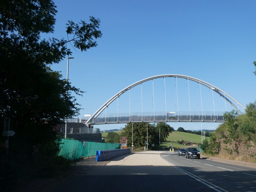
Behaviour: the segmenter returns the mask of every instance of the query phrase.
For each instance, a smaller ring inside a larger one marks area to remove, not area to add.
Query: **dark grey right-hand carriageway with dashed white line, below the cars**
[[[190,177],[220,191],[256,191],[256,167],[241,166],[224,161],[209,161],[178,156],[178,152],[165,152],[161,157]],[[233,162],[232,162],[233,163]]]

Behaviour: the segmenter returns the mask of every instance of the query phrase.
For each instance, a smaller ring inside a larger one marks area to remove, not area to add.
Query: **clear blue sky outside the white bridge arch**
[[[77,96],[84,108],[81,116],[92,115],[128,85],[162,74],[202,79],[244,106],[256,100],[252,64],[256,60],[256,1],[54,2],[58,10],[55,32],[46,38],[66,38],[67,20],[88,22],[89,16],[94,16],[101,21],[103,35],[96,48],[81,52],[68,45],[75,58],[69,60],[69,80],[86,91],[83,97]],[[67,60],[54,64],[52,69],[61,71],[66,78]],[[186,89],[186,85],[183,87]],[[192,89],[190,94],[198,92]],[[140,99],[140,91],[136,94]],[[136,112],[140,112],[140,105]],[[170,125],[175,129],[201,129],[201,123]],[[215,129],[218,124],[202,126]],[[94,127],[119,129],[124,124]]]

